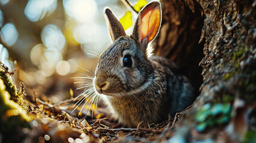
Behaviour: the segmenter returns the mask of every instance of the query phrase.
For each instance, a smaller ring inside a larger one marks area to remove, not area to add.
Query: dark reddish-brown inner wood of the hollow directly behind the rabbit
[[[198,43],[203,27],[202,9],[190,1],[162,0],[161,3],[162,26],[154,41],[154,53],[174,61],[198,95],[202,83],[199,62],[203,58],[203,42]]]

